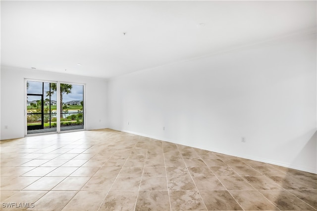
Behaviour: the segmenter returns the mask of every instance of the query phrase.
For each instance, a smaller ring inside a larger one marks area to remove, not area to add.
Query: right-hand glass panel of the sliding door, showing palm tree
[[[84,85],[60,84],[60,130],[84,129]]]

